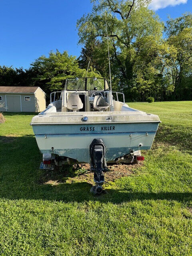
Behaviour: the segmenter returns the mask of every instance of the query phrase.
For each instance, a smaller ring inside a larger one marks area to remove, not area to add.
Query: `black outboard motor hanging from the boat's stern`
[[[94,194],[101,194],[102,184],[104,183],[103,170],[107,169],[106,160],[104,158],[106,146],[102,139],[94,139],[90,145],[91,170],[94,171],[94,182],[96,186],[91,188]]]

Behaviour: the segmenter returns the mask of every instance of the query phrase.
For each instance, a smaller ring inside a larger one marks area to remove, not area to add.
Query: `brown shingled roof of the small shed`
[[[35,93],[38,86],[0,86],[0,93]],[[40,90],[42,90],[40,88]]]

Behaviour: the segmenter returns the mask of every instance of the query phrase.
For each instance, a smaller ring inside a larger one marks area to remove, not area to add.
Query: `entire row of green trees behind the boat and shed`
[[[91,0],[92,11],[77,21],[78,58],[56,50],[28,69],[0,66],[0,85],[60,90],[68,77],[109,79],[108,28],[113,90],[127,101],[192,100],[192,14],[164,24],[150,0]],[[87,67],[89,65],[88,73]]]

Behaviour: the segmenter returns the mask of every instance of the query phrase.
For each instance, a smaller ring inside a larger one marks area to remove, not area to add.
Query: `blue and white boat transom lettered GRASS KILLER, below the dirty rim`
[[[151,148],[159,122],[110,124],[33,125],[42,154],[54,153],[90,163],[90,144],[101,138],[106,146],[106,161],[113,162],[130,152]]]

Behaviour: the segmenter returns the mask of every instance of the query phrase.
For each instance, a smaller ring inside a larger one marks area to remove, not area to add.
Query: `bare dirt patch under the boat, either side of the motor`
[[[140,167],[141,164],[111,164],[108,165],[108,169],[104,172],[106,182],[114,181],[118,178],[130,176],[133,173],[133,168]],[[74,166],[65,166],[64,168],[58,168],[54,171],[43,171],[42,176],[38,183],[50,184],[52,186],[61,183],[73,183],[73,182],[93,182],[93,172],[90,171],[90,164],[79,164]]]

